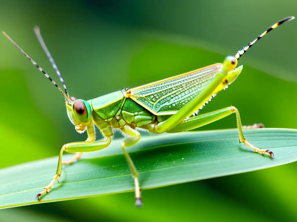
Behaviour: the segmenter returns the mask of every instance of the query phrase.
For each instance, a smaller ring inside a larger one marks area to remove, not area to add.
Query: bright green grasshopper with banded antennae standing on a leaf
[[[177,133],[204,126],[235,113],[239,142],[244,143],[254,152],[258,152],[261,155],[267,154],[272,158],[273,153],[271,151],[257,148],[244,138],[241,119],[236,107],[229,106],[201,115],[198,115],[198,111],[219,91],[225,89],[235,81],[242,70],[242,65],[236,68],[238,59],[242,54],[272,29],[292,19],[294,17],[287,17],[275,23],[246,47],[239,50],[235,56],[226,57],[223,63],[216,63],[144,86],[116,91],[87,101],[69,96],[64,80],[42,39],[38,27],[34,27],[34,32],[56,74],[60,78],[65,93],[36,62],[3,32],[61,91],[66,100],[67,115],[69,120],[75,125],[75,130],[78,133],[87,131],[88,134],[86,141],[72,142],[62,146],[56,174],[48,186],[37,194],[36,198],[38,201],[43,194],[50,191],[55,181],[58,180],[61,175],[62,165],[70,164],[80,159],[83,152],[93,152],[108,147],[113,137],[113,129],[119,129],[127,136],[123,140],[121,147],[134,178],[136,206],[143,204],[138,182],[138,171],[125,149],[139,141],[140,133],[136,128],[146,129],[150,133]],[[105,137],[102,141],[95,141],[95,125]],[[255,124],[249,128],[261,126],[261,124]],[[76,153],[76,155],[71,160],[62,162],[64,151]]]

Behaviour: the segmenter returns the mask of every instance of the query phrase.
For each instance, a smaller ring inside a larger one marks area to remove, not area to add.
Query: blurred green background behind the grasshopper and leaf
[[[0,29],[58,83],[33,32],[39,25],[70,95],[91,99],[222,62],[296,9],[292,0],[1,0]],[[293,20],[261,39],[203,112],[233,105],[243,125],[297,128],[296,37]],[[4,36],[0,50],[0,167],[85,140],[60,92]],[[232,115],[199,130],[235,127]],[[0,221],[297,221],[296,166],[147,190],[141,209],[125,193],[3,209]]]

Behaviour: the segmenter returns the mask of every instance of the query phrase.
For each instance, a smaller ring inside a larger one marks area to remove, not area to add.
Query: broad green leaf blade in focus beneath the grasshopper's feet
[[[251,129],[244,130],[244,135],[255,146],[273,151],[274,158],[263,157],[239,144],[236,129],[143,136],[127,150],[138,168],[143,190],[297,160],[295,129]],[[63,166],[60,183],[40,202],[132,192],[134,183],[121,141],[116,139],[107,149],[85,153],[78,162]],[[65,155],[64,159],[71,157]],[[58,157],[53,157],[0,170],[0,208],[38,203],[35,196],[50,182],[57,161]]]

